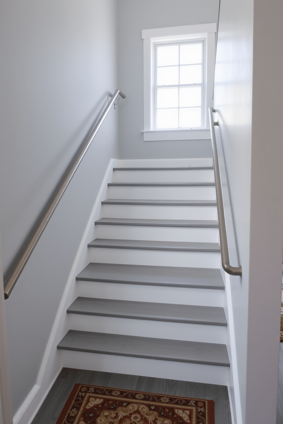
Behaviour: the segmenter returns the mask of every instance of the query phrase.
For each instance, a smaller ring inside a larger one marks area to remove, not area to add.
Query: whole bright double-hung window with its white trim
[[[143,139],[209,139],[216,24],[143,30]]]

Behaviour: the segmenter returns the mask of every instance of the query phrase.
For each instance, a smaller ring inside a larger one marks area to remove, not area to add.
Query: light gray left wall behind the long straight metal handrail
[[[3,268],[117,88],[116,0],[0,5]],[[111,157],[111,109],[6,301],[13,408],[36,382],[67,278]]]

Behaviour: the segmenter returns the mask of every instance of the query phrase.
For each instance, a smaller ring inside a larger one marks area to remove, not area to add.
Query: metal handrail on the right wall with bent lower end
[[[218,122],[214,122],[213,112],[215,112],[215,110],[212,107],[210,107],[208,109],[208,113],[209,113],[210,134],[211,134],[211,144],[212,144],[215,189],[216,189],[216,202],[217,202],[217,214],[218,214],[218,224],[219,224],[221,262],[222,262],[222,267],[223,267],[225,272],[227,272],[228,274],[231,274],[231,275],[242,276],[241,265],[238,266],[238,267],[234,267],[234,266],[231,266],[230,262],[229,262],[227,233],[226,233],[224,206],[223,206],[223,198],[222,198],[222,190],[221,190],[221,179],[220,179],[219,163],[218,163],[217,147],[216,147],[216,137],[215,137],[215,130],[214,130],[214,126],[218,125]]]

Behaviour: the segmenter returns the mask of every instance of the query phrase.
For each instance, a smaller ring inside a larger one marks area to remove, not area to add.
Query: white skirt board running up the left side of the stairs
[[[76,275],[89,262],[87,243],[95,238],[94,222],[101,218],[101,201],[106,197],[107,183],[112,181],[112,167],[118,166],[120,166],[120,161],[118,159],[110,160],[67,280],[39,369],[36,384],[14,415],[14,424],[31,423],[62,369],[61,352],[57,350],[57,344],[70,329],[68,328],[66,309],[77,297],[78,289]]]

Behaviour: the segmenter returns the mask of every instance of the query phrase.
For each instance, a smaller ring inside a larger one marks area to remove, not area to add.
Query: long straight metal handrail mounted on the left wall
[[[74,173],[76,172],[78,165],[81,163],[81,160],[83,159],[85,153],[87,153],[87,149],[90,147],[90,144],[92,140],[94,139],[99,127],[101,126],[102,122],[104,121],[104,118],[106,117],[106,114],[109,112],[109,109],[111,108],[112,104],[115,102],[116,97],[120,95],[121,98],[126,98],[126,96],[121,92],[121,90],[117,89],[115,93],[112,95],[109,103],[107,104],[106,108],[104,109],[104,112],[102,113],[101,117],[99,118],[98,122],[96,123],[95,127],[93,128],[90,136],[88,137],[87,141],[84,143],[83,147],[81,148],[80,153],[78,154],[78,157],[76,158],[76,161],[73,163],[72,167],[70,168],[70,171],[66,178],[64,179],[61,187],[59,188],[58,192],[54,196],[50,206],[48,207],[47,212],[45,212],[45,215],[43,216],[42,220],[40,221],[39,225],[37,226],[36,230],[34,231],[33,236],[31,237],[30,241],[28,242],[28,245],[26,246],[25,250],[23,251],[20,259],[18,260],[17,264],[14,267],[14,270],[9,275],[8,279],[6,280],[4,284],[4,295],[5,299],[8,299],[8,297],[11,294],[11,291],[14,288],[14,285],[16,284],[18,278],[20,277],[22,270],[25,267],[25,264],[28,262],[29,257],[31,256],[36,243],[38,242],[41,234],[43,233],[43,230],[48,224],[48,221],[50,220],[51,216],[53,215],[53,212],[56,209],[56,206],[58,205],[60,199],[62,198],[62,195],[64,194],[66,188],[68,187],[71,179],[74,176]],[[70,165],[69,165],[70,166]]]

